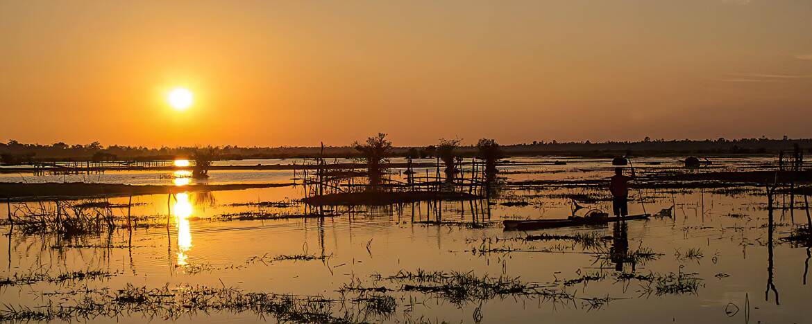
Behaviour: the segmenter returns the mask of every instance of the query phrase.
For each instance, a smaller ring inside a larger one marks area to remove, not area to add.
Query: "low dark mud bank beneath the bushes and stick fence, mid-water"
[[[479,199],[475,194],[457,192],[362,192],[349,194],[325,194],[303,198],[302,202],[311,205],[391,205],[393,203],[415,203],[431,200],[473,200]]]

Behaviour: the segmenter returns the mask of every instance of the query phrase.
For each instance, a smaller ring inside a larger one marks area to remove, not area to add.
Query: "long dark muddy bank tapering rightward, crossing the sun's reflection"
[[[119,185],[108,183],[0,183],[0,198],[15,201],[37,201],[46,198],[122,197],[140,194],[168,194],[172,192],[244,190],[292,185],[290,183],[262,183],[235,185]]]

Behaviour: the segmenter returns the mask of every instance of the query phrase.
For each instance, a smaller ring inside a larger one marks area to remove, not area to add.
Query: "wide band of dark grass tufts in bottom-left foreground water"
[[[72,322],[91,318],[119,318],[140,313],[144,316],[175,320],[198,312],[256,313],[270,315],[279,322],[358,322],[352,313],[334,314],[339,301],[322,296],[279,295],[267,292],[244,292],[237,288],[209,288],[180,286],[170,288],[136,287],[128,283],[115,292],[107,290],[64,293],[63,303],[41,305],[34,308],[6,305],[0,310],[0,321],[54,321]],[[365,309],[376,313],[391,308],[394,299],[365,300]],[[372,303],[372,304],[369,304]]]

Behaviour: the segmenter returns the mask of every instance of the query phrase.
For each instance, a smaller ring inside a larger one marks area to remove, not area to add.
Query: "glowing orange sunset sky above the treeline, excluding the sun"
[[[809,0],[5,1],[0,49],[4,142],[812,137]]]

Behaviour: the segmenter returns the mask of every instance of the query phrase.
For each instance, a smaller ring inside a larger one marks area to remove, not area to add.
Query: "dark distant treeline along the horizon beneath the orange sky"
[[[395,143],[396,145],[396,143]],[[706,139],[706,140],[663,140],[645,139],[639,142],[533,142],[501,146],[506,156],[562,155],[562,156],[685,156],[685,155],[728,155],[728,154],[777,154],[791,151],[795,146],[812,153],[812,139]],[[107,161],[107,160],[173,160],[192,156],[200,147],[124,147],[111,145],[104,147],[93,142],[87,145],[54,143],[50,145],[24,144],[11,140],[0,143],[0,162],[3,164],[24,164],[50,161]],[[313,157],[322,154],[321,147],[210,147],[219,160],[276,159]],[[457,149],[460,156],[474,156],[476,147],[462,146]],[[395,147],[396,156],[415,158],[434,157],[436,147]],[[323,148],[325,157],[356,157],[358,151],[352,146],[327,146]]]

